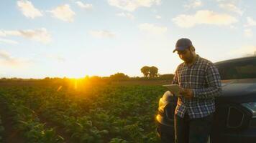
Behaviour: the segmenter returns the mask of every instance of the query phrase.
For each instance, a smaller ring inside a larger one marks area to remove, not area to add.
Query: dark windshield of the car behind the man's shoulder
[[[256,78],[256,59],[244,59],[216,64],[221,79]]]

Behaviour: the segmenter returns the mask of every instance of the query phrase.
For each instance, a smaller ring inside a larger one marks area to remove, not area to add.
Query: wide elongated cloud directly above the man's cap
[[[197,24],[227,26],[237,22],[237,19],[229,14],[218,14],[214,11],[201,10],[196,11],[196,14],[194,15],[180,14],[173,18],[173,22],[180,27],[190,28]]]

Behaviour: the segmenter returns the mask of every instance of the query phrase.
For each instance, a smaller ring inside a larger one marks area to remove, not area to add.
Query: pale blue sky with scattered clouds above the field
[[[173,74],[180,38],[212,62],[254,55],[252,0],[0,0],[0,78]]]

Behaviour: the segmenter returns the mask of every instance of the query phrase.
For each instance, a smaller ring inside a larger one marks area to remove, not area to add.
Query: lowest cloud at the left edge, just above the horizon
[[[22,59],[14,58],[6,51],[0,51],[0,64],[5,66],[17,67],[24,66],[28,63],[27,61],[23,61]]]

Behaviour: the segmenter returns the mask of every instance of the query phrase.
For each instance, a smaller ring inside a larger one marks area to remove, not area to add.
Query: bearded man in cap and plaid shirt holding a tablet
[[[179,39],[175,51],[184,61],[173,78],[182,95],[175,109],[175,142],[206,143],[215,112],[214,97],[221,94],[219,71],[196,54],[190,39]]]

